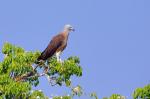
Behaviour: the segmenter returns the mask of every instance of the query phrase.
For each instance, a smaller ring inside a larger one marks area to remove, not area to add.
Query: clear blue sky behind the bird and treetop
[[[8,41],[43,51],[69,23],[76,31],[62,58],[79,56],[83,67],[83,77],[73,84],[100,98],[118,93],[131,99],[135,88],[150,83],[149,5],[149,0],[1,0],[0,50]],[[37,89],[48,96],[69,91],[51,87],[45,78]]]

